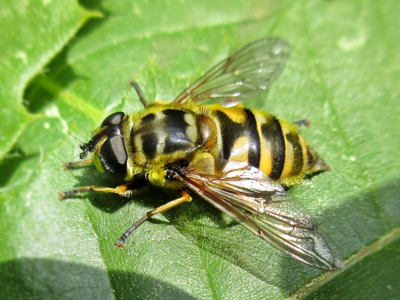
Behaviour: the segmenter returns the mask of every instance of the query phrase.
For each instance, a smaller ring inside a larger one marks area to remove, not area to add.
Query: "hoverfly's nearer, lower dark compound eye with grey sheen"
[[[98,154],[106,171],[118,177],[124,178],[126,176],[127,154],[120,135],[107,138],[101,145]]]

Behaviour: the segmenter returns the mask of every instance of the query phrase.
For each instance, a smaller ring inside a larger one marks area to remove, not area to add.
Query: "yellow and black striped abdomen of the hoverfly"
[[[248,161],[273,179],[289,186],[308,171],[308,149],[294,124],[242,107],[210,105],[221,128],[219,157]],[[312,151],[313,153],[313,151]]]

